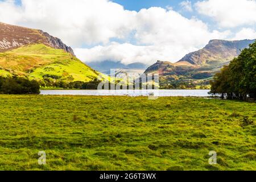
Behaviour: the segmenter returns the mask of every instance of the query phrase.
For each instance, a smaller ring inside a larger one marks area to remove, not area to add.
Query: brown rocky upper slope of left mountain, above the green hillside
[[[55,38],[47,32],[0,22],[0,52],[34,43],[43,43],[52,48],[64,49],[75,56],[71,47],[68,47],[59,38]]]

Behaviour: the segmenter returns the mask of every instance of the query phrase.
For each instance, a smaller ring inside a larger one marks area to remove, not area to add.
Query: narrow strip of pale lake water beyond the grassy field
[[[209,97],[210,90],[41,90],[42,95]]]

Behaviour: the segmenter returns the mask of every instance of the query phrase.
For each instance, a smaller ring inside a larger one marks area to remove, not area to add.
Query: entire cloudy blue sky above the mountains
[[[150,65],[212,39],[255,39],[256,0],[0,0],[0,22],[46,31],[85,63]]]

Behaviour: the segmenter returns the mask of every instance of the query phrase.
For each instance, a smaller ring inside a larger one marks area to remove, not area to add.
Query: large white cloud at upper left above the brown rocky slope
[[[123,39],[133,29],[135,11],[106,0],[22,0],[0,3],[0,21],[40,28],[71,46]]]

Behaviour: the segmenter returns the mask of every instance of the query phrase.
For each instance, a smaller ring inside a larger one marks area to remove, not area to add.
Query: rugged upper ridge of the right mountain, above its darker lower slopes
[[[241,50],[254,43],[254,40],[210,40],[203,49],[185,55],[180,61],[191,64],[216,64],[231,61],[241,53]]]

